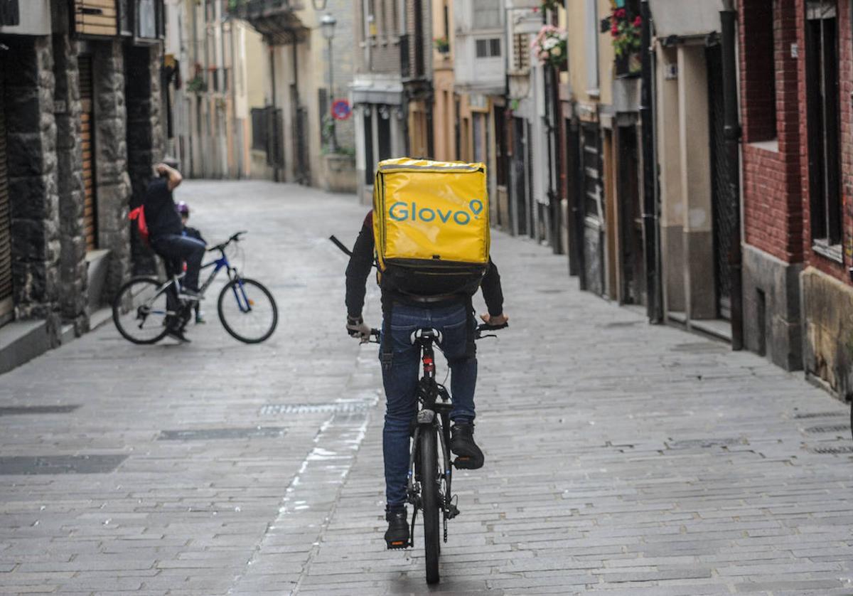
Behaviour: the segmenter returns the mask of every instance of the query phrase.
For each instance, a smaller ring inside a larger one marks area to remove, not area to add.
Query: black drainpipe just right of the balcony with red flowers
[[[646,266],[646,314],[651,323],[661,320],[660,279],[658,268],[658,213],[655,196],[655,170],[657,161],[654,157],[654,114],[652,113],[652,13],[648,0],[640,4],[642,17],[641,28],[641,61],[642,75],[640,88],[640,122],[642,126],[642,227],[643,227],[643,256]]]

